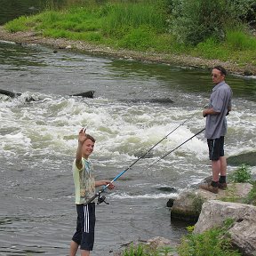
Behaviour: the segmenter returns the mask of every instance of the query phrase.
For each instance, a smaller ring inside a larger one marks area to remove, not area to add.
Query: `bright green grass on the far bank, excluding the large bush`
[[[4,28],[10,32],[36,31],[46,37],[108,45],[113,49],[186,54],[236,62],[240,67],[248,63],[256,66],[256,38],[244,26],[225,28],[221,40],[212,34],[196,44],[181,42],[172,29],[174,16],[167,2],[170,1],[82,1],[63,10],[50,7],[35,16],[22,16]]]

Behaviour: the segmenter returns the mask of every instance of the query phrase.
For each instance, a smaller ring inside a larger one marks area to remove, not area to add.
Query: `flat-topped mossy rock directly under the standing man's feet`
[[[196,222],[202,205],[209,200],[225,200],[243,202],[243,198],[252,189],[250,183],[230,183],[227,190],[220,190],[213,194],[203,189],[191,189],[180,193],[172,205],[171,219],[189,220]]]

